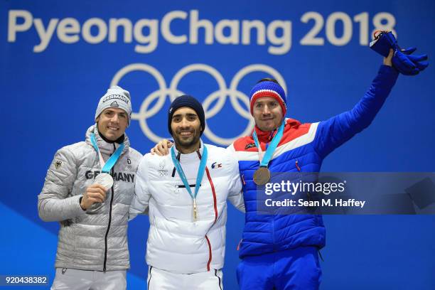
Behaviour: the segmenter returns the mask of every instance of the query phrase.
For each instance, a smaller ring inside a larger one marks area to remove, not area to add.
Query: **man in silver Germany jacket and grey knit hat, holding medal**
[[[129,92],[111,87],[98,103],[96,124],[87,129],[85,141],[54,156],[38,195],[40,218],[60,222],[51,289],[127,287],[127,222],[141,159],[124,133],[130,120]],[[102,176],[105,182],[98,181]]]

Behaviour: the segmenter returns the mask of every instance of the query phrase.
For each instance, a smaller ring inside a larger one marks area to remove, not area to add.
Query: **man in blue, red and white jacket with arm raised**
[[[253,134],[230,146],[239,160],[246,208],[242,262],[237,267],[240,289],[318,289],[318,249],[325,246],[321,215],[260,214],[257,185],[269,181],[264,179],[268,171],[320,171],[331,151],[368,127],[397,80],[391,60],[392,53],[353,109],[318,123],[286,119],[286,95],[275,80],[261,80],[253,87],[249,96]]]

